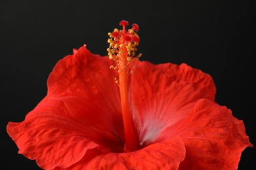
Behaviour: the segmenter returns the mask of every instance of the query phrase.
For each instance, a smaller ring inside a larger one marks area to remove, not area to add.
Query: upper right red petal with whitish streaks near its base
[[[137,64],[131,76],[131,108],[140,144],[146,146],[167,126],[186,116],[198,99],[215,99],[211,76],[186,64]]]

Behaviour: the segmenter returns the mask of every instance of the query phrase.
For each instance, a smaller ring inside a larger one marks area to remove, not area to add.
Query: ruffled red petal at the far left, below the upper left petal
[[[19,153],[36,160],[43,169],[69,167],[98,144],[112,144],[117,150],[122,146],[111,131],[81,124],[78,119],[64,102],[46,96],[23,122],[9,122],[7,132]]]

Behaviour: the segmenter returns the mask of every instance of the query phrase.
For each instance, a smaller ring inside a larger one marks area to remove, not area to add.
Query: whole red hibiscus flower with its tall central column
[[[238,169],[253,145],[211,76],[139,61],[139,26],[120,25],[108,56],[81,46],[56,63],[45,98],[7,125],[18,152],[43,169]]]

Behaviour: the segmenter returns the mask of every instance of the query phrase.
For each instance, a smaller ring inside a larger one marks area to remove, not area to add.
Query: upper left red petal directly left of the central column
[[[82,46],[56,63],[48,78],[48,95],[63,101],[82,124],[109,129],[123,139],[119,89],[110,65],[110,59]]]

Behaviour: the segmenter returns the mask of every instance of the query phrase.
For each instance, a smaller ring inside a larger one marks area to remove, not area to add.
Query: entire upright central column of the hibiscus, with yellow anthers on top
[[[122,30],[114,29],[112,33],[108,33],[110,43],[108,56],[114,61],[114,65],[110,69],[117,71],[119,77],[115,78],[119,85],[121,110],[123,115],[123,126],[125,131],[125,152],[131,152],[138,149],[138,139],[133,124],[133,118],[129,109],[129,84],[128,75],[133,73],[135,67],[135,59],[139,59],[142,54],[135,56],[137,51],[136,46],[139,45],[140,38],[137,35],[139,26],[133,24],[131,29],[126,30],[125,26],[128,22],[122,20],[119,25],[123,27]]]

